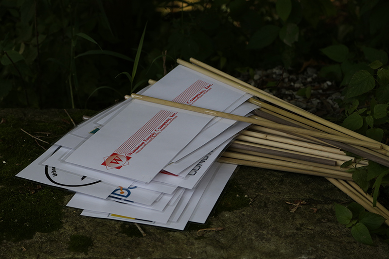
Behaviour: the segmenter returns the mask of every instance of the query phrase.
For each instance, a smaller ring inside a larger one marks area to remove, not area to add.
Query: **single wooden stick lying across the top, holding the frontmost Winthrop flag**
[[[327,134],[327,133],[321,133],[318,131],[301,129],[301,128],[292,127],[292,126],[280,125],[280,124],[274,123],[274,122],[259,121],[259,120],[247,118],[244,116],[238,116],[238,115],[234,115],[234,114],[230,114],[230,113],[205,109],[205,108],[196,107],[193,105],[179,104],[179,103],[175,103],[175,102],[171,102],[171,101],[167,101],[167,100],[162,100],[159,98],[144,96],[144,95],[140,95],[140,94],[133,93],[133,94],[131,94],[131,97],[133,99],[138,99],[138,100],[151,102],[151,103],[155,103],[155,104],[167,105],[167,106],[171,106],[171,107],[175,107],[175,108],[179,108],[179,109],[194,111],[194,112],[203,113],[203,114],[216,116],[216,117],[222,117],[222,118],[226,118],[226,119],[230,119],[230,120],[234,120],[234,121],[243,121],[243,122],[248,122],[251,124],[269,127],[269,128],[273,128],[273,129],[279,129],[279,130],[285,130],[285,131],[289,131],[289,132],[293,132],[293,133],[299,133],[302,135],[308,135],[308,136],[313,136],[313,137],[318,137],[318,138],[325,138],[325,139],[330,139],[330,140],[335,140],[335,141],[341,141],[344,143],[353,143],[355,145],[369,146],[371,148],[381,149],[380,144],[374,144],[371,142],[361,141],[361,140],[357,140],[354,138],[345,138],[345,137],[331,135],[331,134]]]

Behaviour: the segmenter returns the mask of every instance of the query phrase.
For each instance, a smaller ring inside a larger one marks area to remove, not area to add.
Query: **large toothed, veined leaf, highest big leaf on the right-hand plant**
[[[345,98],[352,98],[369,92],[375,86],[374,77],[366,70],[355,72],[351,78]]]

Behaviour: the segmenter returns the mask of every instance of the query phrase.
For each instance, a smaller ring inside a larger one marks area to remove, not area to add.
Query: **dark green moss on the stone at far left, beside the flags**
[[[63,198],[68,193],[14,176],[50,147],[20,129],[52,143],[73,128],[69,117],[58,110],[38,118],[30,110],[13,112],[0,110],[0,241],[31,239],[36,232],[59,229]],[[83,113],[70,112],[76,123]]]

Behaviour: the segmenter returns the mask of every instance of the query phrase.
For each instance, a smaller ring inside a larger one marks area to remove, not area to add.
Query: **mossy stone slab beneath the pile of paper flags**
[[[68,112],[76,123],[93,114]],[[389,245],[378,236],[372,236],[373,246],[363,245],[337,222],[333,204],[352,200],[326,179],[260,168],[240,167],[207,224],[190,224],[184,231],[140,225],[143,237],[133,224],[82,217],[65,206],[71,192],[14,177],[50,146],[39,146],[20,128],[63,135],[72,128],[63,109],[0,109],[2,118],[1,259],[388,258]],[[297,200],[307,204],[291,213],[285,202]],[[205,228],[220,230],[197,235]],[[85,239],[79,250],[69,249],[74,236]]]

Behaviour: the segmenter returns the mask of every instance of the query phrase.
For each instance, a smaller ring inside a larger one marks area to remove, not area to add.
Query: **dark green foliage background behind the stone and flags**
[[[1,0],[0,107],[99,110],[177,58],[251,76],[315,65],[338,82],[345,118],[354,114],[344,126],[378,139],[389,120],[388,8],[385,0]],[[360,70],[368,74],[351,82]]]

